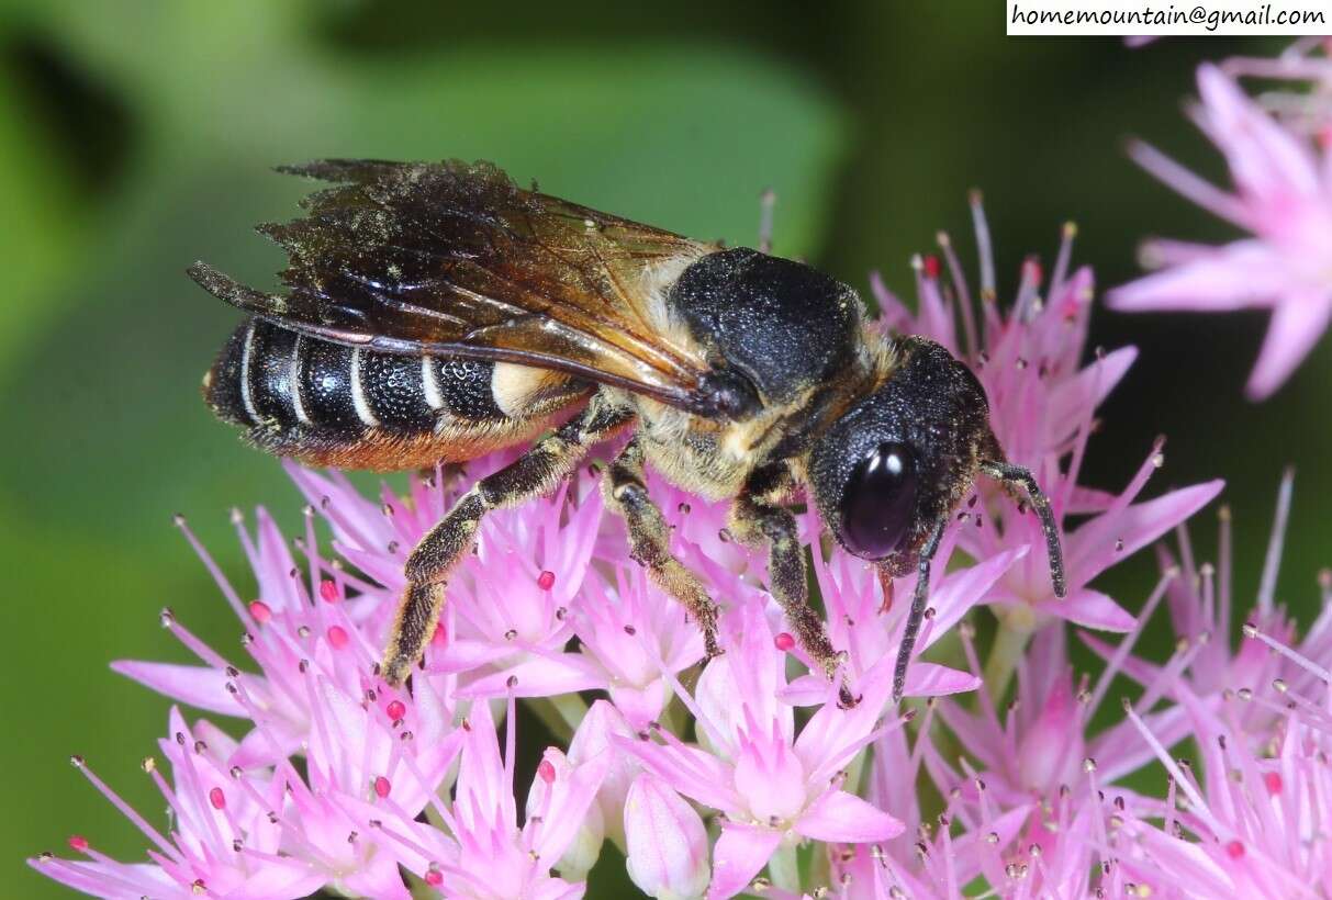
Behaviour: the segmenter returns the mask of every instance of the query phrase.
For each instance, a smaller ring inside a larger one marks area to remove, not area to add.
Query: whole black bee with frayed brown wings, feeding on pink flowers
[[[766,546],[769,590],[815,666],[842,658],[809,603],[793,503],[811,499],[847,553],[918,574],[894,671],[900,699],[930,564],[979,475],[1040,517],[1055,592],[1059,534],[1031,473],[1006,462],[971,370],[922,337],[886,337],[822,272],[726,249],[518,188],[498,168],[326,160],[280,169],[330,182],[260,233],[285,289],[189,274],[248,313],[204,397],[262,450],[306,465],[417,469],[533,442],[480,479],[408,557],[381,675],[420,662],[446,582],[481,519],[546,494],[595,445],[631,437],[602,475],[633,559],[717,643],[718,606],[670,551],[651,466]],[[844,682],[844,706],[855,698]]]

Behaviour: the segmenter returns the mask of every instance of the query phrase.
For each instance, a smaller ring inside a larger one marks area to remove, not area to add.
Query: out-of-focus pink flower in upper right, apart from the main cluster
[[[1235,190],[1224,192],[1146,144],[1134,158],[1208,212],[1252,237],[1224,246],[1151,241],[1162,272],[1116,288],[1120,310],[1272,310],[1248,382],[1253,399],[1281,386],[1332,316],[1332,154],[1276,122],[1215,65],[1197,71],[1199,128],[1224,153]]]

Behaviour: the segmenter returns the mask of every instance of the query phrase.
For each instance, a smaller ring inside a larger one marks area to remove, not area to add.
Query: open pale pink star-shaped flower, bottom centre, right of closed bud
[[[785,651],[758,603],[726,623],[729,650],[703,670],[693,700],[701,746],[666,730],[663,743],[622,740],[643,768],[671,788],[726,815],[713,861],[709,897],[730,897],[783,844],[799,839],[872,841],[902,824],[840,788],[839,772],[882,731],[878,714],[891,687],[891,659],[858,683],[862,702],[842,710],[835,686],[799,735],[794,711],[778,699],[786,686]]]

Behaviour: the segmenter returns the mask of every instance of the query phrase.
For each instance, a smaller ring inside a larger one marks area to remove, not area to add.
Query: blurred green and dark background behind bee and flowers
[[[1221,174],[1181,116],[1204,59],[1273,41],[1010,40],[998,3],[579,7],[518,1],[133,3],[11,0],[0,11],[0,896],[60,896],[21,857],[73,831],[113,855],[141,840],[73,772],[87,755],[151,816],[139,759],[166,703],[107,671],[182,658],[173,606],[234,646],[237,628],[170,515],[245,584],[226,511],[300,501],[198,401],[233,310],[184,276],[204,257],[261,284],[274,248],[249,228],[305,190],[269,172],[318,156],[484,157],[519,181],[698,237],[754,241],[778,190],[777,250],[864,289],[951,230],[972,260],[966,192],[986,192],[1003,284],[1080,225],[1099,284],[1136,272],[1148,233],[1227,230],[1136,170],[1130,134]],[[1299,469],[1280,596],[1316,606],[1332,562],[1332,341],[1271,402],[1241,399],[1265,322],[1098,313],[1094,342],[1143,355],[1104,407],[1088,481],[1119,487],[1158,433],[1150,493],[1221,475],[1237,595],[1252,596],[1275,487]],[[1195,527],[1209,558],[1215,515]],[[1106,588],[1136,608],[1148,557]],[[1158,623],[1163,624],[1163,623]],[[1166,634],[1158,628],[1158,646]],[[602,896],[613,884],[599,885]],[[598,887],[594,884],[594,887]]]

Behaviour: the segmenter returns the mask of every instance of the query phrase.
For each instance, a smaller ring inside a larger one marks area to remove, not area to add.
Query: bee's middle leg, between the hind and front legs
[[[703,630],[709,659],[722,654],[717,644],[717,604],[703,583],[670,554],[670,529],[661,510],[647,495],[643,482],[643,450],[630,441],[610,463],[602,479],[606,507],[625,517],[629,526],[629,555],[647,568],[649,578],[679,600]]]

